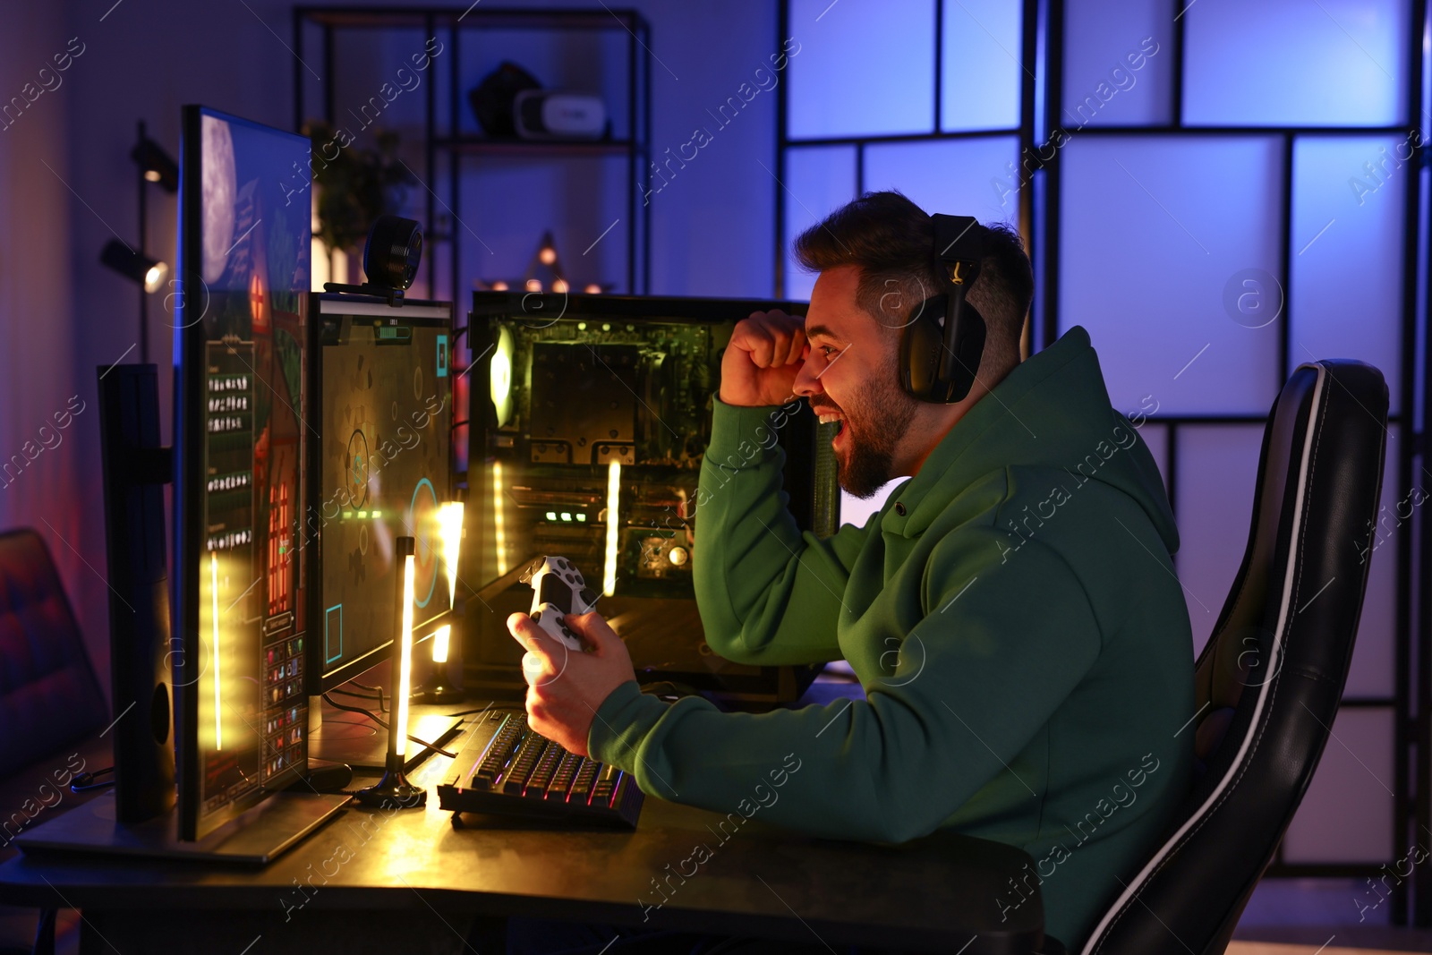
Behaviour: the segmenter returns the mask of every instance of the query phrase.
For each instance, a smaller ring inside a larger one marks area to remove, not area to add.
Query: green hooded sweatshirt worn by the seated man
[[[1088,334],[1015,368],[865,527],[826,538],[786,510],[779,415],[715,411],[693,557],[706,640],[742,663],[843,657],[866,699],[722,713],[632,682],[599,709],[593,755],[736,822],[1021,846],[1035,865],[1001,911],[1040,885],[1047,931],[1081,944],[1193,766],[1179,533]]]

